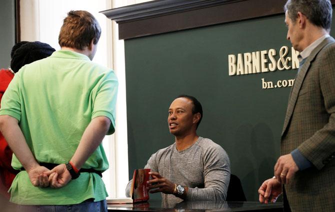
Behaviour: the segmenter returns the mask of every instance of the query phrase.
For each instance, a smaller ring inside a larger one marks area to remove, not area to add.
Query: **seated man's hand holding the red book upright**
[[[149,172],[149,175],[151,175],[153,179],[147,181],[148,190],[155,189],[149,191],[150,193],[162,192],[164,194],[173,194],[175,184],[163,178],[157,172]]]

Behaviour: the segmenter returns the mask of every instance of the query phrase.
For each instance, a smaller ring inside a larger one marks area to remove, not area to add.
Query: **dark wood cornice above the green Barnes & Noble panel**
[[[119,39],[283,13],[286,0],[154,0],[101,11],[119,27]],[[335,0],[331,0],[334,4]]]

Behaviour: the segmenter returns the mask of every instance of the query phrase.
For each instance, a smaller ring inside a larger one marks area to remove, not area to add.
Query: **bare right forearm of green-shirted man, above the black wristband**
[[[107,117],[99,116],[91,120],[81,137],[78,148],[70,160],[77,169],[82,167],[88,157],[102,142],[109,126],[110,120]]]

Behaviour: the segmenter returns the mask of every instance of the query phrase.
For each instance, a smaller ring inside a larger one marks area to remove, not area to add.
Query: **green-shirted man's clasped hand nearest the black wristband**
[[[71,180],[71,175],[66,169],[65,164],[59,164],[45,174],[49,176],[48,181],[52,188],[61,188]]]

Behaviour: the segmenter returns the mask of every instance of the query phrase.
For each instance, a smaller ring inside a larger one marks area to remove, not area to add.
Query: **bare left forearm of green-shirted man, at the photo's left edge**
[[[0,130],[25,170],[39,166],[25,141],[17,119],[8,115],[0,116]]]

